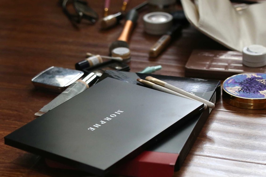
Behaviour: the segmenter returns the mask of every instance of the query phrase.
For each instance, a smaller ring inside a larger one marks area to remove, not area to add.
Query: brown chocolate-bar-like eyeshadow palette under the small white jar
[[[247,67],[242,64],[242,52],[225,50],[194,50],[185,65],[186,77],[224,80],[246,72],[265,73],[266,66]]]

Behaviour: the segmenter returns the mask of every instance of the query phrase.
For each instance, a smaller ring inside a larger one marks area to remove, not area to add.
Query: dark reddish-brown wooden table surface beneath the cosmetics
[[[111,14],[120,10],[121,2],[112,1]],[[139,2],[131,1],[128,7]],[[89,5],[102,18],[104,1]],[[227,50],[188,26],[159,57],[149,58],[148,50],[160,36],[144,33],[145,13],[140,12],[129,42],[132,72],[162,65],[154,74],[184,76],[192,50]],[[74,69],[86,52],[108,55],[122,28],[100,30],[98,22],[74,28],[57,1],[0,1],[0,176],[86,176],[48,168],[39,156],[5,145],[4,136],[35,119],[34,113],[57,96],[35,90],[31,78],[50,66]],[[240,109],[219,99],[174,177],[266,176],[265,115],[265,110]]]

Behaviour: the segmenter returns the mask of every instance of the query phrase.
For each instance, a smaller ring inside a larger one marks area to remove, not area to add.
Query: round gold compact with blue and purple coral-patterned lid
[[[241,73],[227,78],[222,85],[223,100],[244,109],[266,109],[266,74]]]

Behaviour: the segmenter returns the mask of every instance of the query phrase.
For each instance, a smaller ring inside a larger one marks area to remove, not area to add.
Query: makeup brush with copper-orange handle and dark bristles
[[[112,50],[118,47],[126,47],[129,48],[128,40],[130,38],[131,32],[134,28],[135,23],[138,20],[138,11],[135,9],[131,9],[126,15],[126,22],[123,28],[122,33],[118,37],[117,41],[111,43],[109,47],[109,53],[112,53]]]

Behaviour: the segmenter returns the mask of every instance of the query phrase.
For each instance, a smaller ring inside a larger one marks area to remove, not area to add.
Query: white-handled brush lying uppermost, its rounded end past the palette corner
[[[168,89],[170,89],[172,91],[175,91],[177,93],[180,93],[182,95],[188,96],[188,97],[190,97],[192,99],[195,99],[195,100],[197,100],[199,102],[205,103],[210,108],[214,108],[215,107],[215,104],[214,103],[212,103],[210,101],[207,101],[206,99],[203,99],[203,98],[198,97],[196,95],[193,95],[193,94],[191,94],[191,93],[189,93],[187,91],[184,91],[184,90],[182,90],[180,88],[177,88],[177,87],[175,87],[175,86],[173,86],[171,84],[168,84],[167,82],[161,81],[161,80],[156,79],[156,78],[154,78],[152,76],[147,76],[145,79],[148,80],[148,81],[150,81],[150,82],[156,83],[156,84],[158,84],[160,86],[163,86],[165,88],[168,88]]]

